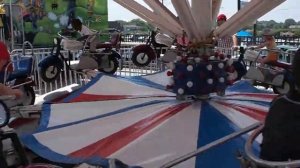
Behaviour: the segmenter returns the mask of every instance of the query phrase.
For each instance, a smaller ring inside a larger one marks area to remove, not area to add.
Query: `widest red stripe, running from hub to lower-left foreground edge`
[[[85,158],[91,156],[108,157],[116,151],[122,149],[130,142],[144,135],[151,129],[155,128],[165,120],[179,113],[189,105],[190,103],[182,103],[164,109],[161,112],[143,120],[140,120],[134,123],[133,125],[120,130],[119,132],[116,132],[104,139],[101,139],[98,142],[95,142],[78,151],[72,152],[70,156]]]

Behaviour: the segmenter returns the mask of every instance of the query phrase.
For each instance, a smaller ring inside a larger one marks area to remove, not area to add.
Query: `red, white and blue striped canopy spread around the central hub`
[[[100,74],[59,103],[45,103],[39,128],[23,143],[48,160],[107,166],[159,167],[257,121],[276,96],[245,81],[224,97],[178,101],[165,73],[120,78]],[[178,167],[239,167],[246,136],[210,149]]]

